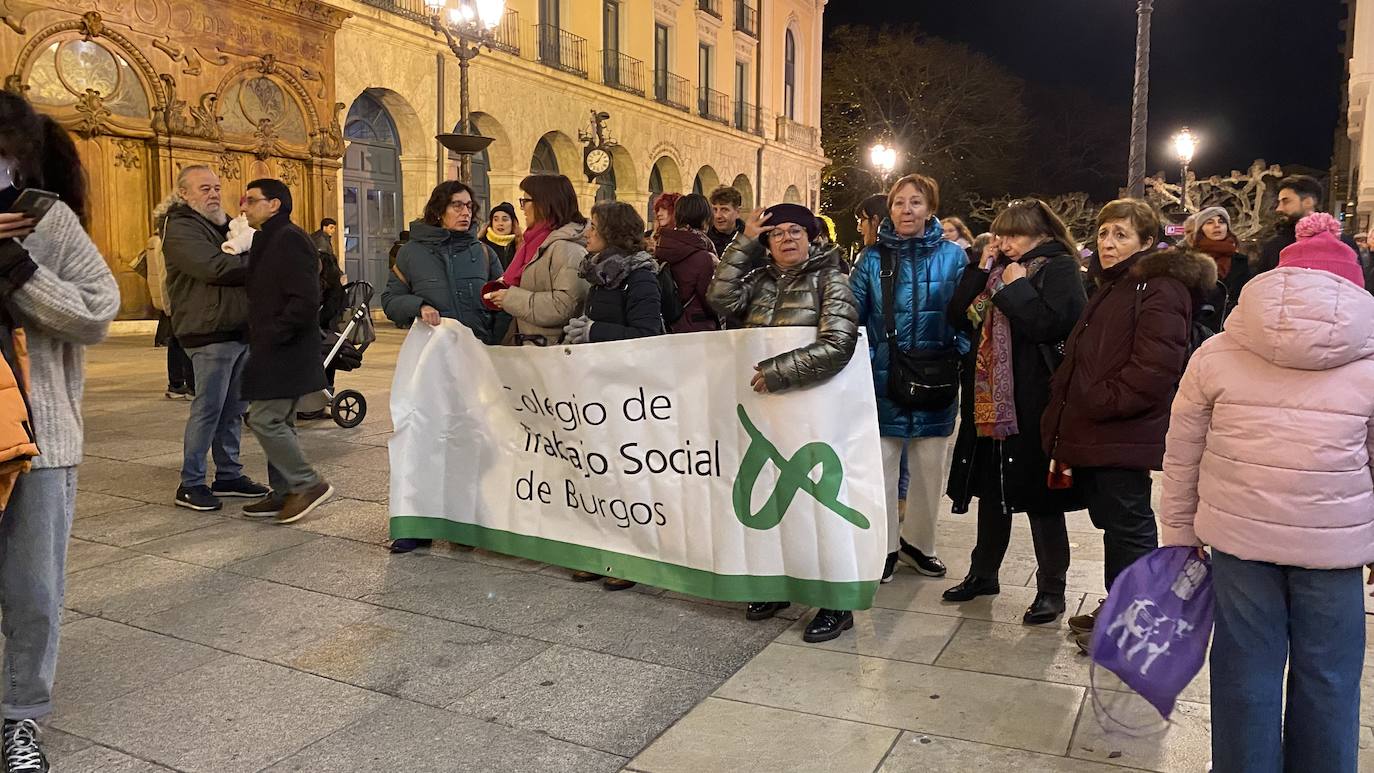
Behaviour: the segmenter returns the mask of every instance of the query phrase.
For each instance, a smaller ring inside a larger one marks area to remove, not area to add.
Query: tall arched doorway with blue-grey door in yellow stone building
[[[390,272],[392,244],[401,222],[401,140],[386,107],[363,92],[344,124],[344,270],[378,292]]]

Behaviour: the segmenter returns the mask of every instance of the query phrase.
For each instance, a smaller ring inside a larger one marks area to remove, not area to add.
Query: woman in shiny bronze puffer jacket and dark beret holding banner
[[[801,205],[758,209],[720,258],[706,288],[716,313],[736,327],[813,327],[816,341],[764,360],[749,386],[760,394],[823,382],[853,357],[859,314],[834,244],[816,246],[816,216]],[[749,604],[747,619],[763,621],[787,601]],[[853,627],[853,614],[820,610],[805,641],[829,641]]]

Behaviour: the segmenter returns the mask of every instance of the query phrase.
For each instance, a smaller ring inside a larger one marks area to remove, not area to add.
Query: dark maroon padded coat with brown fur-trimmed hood
[[[1191,250],[1147,250],[1102,270],[1040,423],[1050,459],[1069,467],[1162,467],[1193,309],[1213,286],[1216,262]]]

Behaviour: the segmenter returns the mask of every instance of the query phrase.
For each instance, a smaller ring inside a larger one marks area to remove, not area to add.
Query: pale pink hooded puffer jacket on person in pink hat
[[[1374,298],[1325,270],[1250,280],[1173,401],[1165,545],[1305,568],[1374,562]]]

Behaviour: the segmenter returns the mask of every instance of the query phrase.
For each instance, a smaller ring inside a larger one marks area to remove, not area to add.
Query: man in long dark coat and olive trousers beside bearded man
[[[319,253],[311,236],[291,222],[291,191],[280,180],[249,183],[243,213],[258,229],[249,251],[243,398],[251,401],[249,428],[267,454],[272,485],[272,496],[245,514],[276,515],[278,523],[293,523],[334,496],[334,487],[305,460],[295,435],[295,404],[326,384]]]

